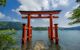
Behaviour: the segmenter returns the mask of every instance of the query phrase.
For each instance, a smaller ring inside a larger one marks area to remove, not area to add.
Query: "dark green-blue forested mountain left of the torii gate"
[[[1,21],[0,22],[0,29],[22,29],[22,24],[20,22],[5,22]]]

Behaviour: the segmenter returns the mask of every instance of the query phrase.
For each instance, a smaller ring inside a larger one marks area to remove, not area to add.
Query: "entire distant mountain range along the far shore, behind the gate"
[[[20,22],[6,22],[6,21],[0,21],[0,29],[16,29],[21,30],[22,29],[22,23]],[[32,27],[33,30],[48,30],[48,27]],[[61,30],[80,30],[80,26],[76,27],[59,27]]]

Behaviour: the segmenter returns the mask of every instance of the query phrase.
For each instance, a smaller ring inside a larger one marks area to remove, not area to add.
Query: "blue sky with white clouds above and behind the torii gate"
[[[61,10],[58,19],[53,19],[53,23],[58,23],[59,27],[74,27],[80,24],[69,25],[68,17],[71,16],[73,9],[79,6],[75,0],[7,0],[6,6],[0,6],[0,21],[14,21],[27,23],[27,19],[22,19],[20,10],[25,11],[51,11]],[[31,19],[34,27],[49,26],[49,19]]]

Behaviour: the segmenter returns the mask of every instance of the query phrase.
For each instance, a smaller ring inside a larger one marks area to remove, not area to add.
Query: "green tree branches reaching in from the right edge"
[[[76,2],[80,3],[80,0],[76,0]],[[73,20],[69,23],[70,25],[80,23],[80,5],[72,11],[72,16],[69,19]]]

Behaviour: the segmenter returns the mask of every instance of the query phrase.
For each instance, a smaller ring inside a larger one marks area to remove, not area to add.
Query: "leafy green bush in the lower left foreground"
[[[16,44],[15,33],[15,30],[0,30],[0,50],[14,50],[12,46]]]

